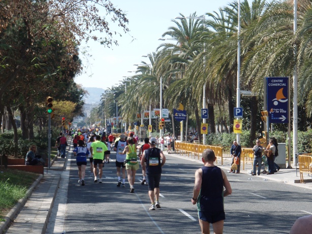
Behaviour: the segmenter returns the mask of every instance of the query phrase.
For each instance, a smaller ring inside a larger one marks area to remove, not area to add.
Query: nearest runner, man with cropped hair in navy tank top
[[[195,173],[192,204],[197,204],[202,233],[210,233],[210,223],[212,223],[213,233],[223,233],[224,197],[232,193],[226,174],[213,164],[215,159],[211,149],[204,150],[202,154],[204,166]]]

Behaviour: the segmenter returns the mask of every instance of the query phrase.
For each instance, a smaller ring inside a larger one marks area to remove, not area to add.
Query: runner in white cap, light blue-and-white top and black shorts
[[[121,134],[119,136],[119,140],[115,141],[114,151],[116,151],[116,170],[117,170],[117,177],[118,183],[117,187],[120,187],[121,180],[120,180],[120,168],[122,168],[122,187],[126,187],[124,182],[126,180],[126,165],[124,165],[123,161],[126,159],[126,154],[122,154],[124,148],[128,145],[126,142],[126,135]]]

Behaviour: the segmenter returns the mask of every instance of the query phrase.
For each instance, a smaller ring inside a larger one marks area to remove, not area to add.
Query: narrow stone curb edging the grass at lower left
[[[30,197],[30,195],[32,195],[33,190],[39,184],[42,178],[43,175],[42,174],[39,175],[37,180],[30,186],[30,188],[28,188],[26,195],[23,198],[20,198],[18,202],[15,204],[15,206],[11,209],[11,211],[6,215],[6,217],[4,217],[6,221],[0,223],[0,234],[5,233],[5,231],[7,231],[7,228],[10,226],[10,222],[14,221],[14,217],[24,207],[28,198]]]

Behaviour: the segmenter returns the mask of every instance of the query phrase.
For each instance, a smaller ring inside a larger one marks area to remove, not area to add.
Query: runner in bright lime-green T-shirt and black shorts
[[[91,155],[93,156],[93,174],[94,182],[98,182],[97,166],[99,164],[99,183],[102,183],[104,152],[107,150],[106,145],[100,141],[101,137],[96,136],[96,141],[90,146]]]

